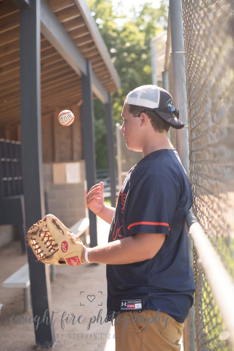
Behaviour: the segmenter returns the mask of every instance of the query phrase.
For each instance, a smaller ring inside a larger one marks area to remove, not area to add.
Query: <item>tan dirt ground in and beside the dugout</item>
[[[102,220],[98,220],[97,224],[98,244],[102,244],[107,242],[110,226]],[[2,351],[31,351],[36,348],[34,325],[29,323],[32,311],[24,311],[23,289],[1,287],[1,283],[26,262],[26,255],[20,253],[19,241],[0,249],[0,303],[4,305],[0,313]],[[105,265],[56,266],[51,295],[50,308],[54,311],[56,340],[53,350],[115,350],[115,334],[111,323],[101,324],[106,316]],[[90,319],[94,320],[94,316],[97,318],[98,313],[98,323],[90,324]],[[21,317],[16,320],[17,316]],[[74,325],[71,316],[75,316]]]

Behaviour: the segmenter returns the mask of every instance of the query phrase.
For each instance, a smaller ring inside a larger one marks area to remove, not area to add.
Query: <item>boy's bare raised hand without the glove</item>
[[[104,183],[101,181],[99,184],[92,186],[86,197],[86,202],[89,209],[97,215],[105,207],[103,185]]]

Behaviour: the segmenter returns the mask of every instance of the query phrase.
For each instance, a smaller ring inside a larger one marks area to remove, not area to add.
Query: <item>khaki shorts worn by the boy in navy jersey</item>
[[[179,351],[184,323],[152,310],[121,312],[115,318],[116,351]]]

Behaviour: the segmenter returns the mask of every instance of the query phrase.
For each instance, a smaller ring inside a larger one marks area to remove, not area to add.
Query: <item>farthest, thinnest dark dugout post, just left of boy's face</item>
[[[111,206],[116,206],[116,184],[115,184],[115,151],[113,138],[113,121],[112,121],[112,106],[110,93],[108,94],[108,103],[106,107],[106,129],[108,137],[108,159],[111,183]]]

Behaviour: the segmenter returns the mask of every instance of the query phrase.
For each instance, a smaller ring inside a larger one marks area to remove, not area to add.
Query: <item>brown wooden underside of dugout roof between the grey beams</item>
[[[46,4],[84,59],[91,61],[95,81],[98,79],[107,92],[116,91],[118,83],[102,58],[94,33],[90,31],[88,20],[77,6],[77,1],[47,0]],[[19,124],[20,9],[13,0],[0,0],[0,81],[0,126]],[[53,111],[62,107],[64,102],[66,105],[74,105],[81,99],[81,77],[41,34],[42,114],[48,112],[48,109]]]

